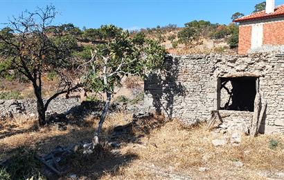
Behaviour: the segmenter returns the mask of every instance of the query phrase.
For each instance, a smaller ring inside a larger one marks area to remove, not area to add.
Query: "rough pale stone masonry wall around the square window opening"
[[[219,110],[222,126],[247,131],[259,92],[267,100],[260,132],[284,134],[284,54],[170,55],[166,63],[145,79],[145,106],[188,125]]]

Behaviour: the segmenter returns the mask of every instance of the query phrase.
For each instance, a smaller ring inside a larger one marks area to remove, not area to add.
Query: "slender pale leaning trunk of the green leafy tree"
[[[103,108],[103,112],[100,115],[100,121],[98,122],[98,128],[96,129],[95,136],[94,136],[94,146],[96,146],[99,143],[99,136],[100,131],[102,130],[103,123],[105,122],[105,117],[107,117],[107,111],[109,110],[110,101],[112,100],[112,94],[107,92],[107,101],[105,101],[105,106]]]

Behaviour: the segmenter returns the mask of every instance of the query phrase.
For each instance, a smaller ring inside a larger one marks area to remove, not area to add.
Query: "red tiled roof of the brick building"
[[[281,16],[284,16],[284,4],[281,6],[277,6],[275,8],[275,11],[270,14],[266,14],[265,10],[263,10],[260,12],[247,15],[245,17],[240,17],[238,19],[235,19],[234,22],[252,21],[252,20],[258,20],[258,19],[269,19],[269,18],[281,17]]]

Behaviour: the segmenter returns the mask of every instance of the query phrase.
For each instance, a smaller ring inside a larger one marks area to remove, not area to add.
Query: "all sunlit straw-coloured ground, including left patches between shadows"
[[[131,114],[111,114],[104,124],[103,139],[114,127],[132,121]],[[58,130],[46,126],[35,130],[35,119],[0,122],[0,159],[19,147],[46,154],[55,146],[88,141],[98,119],[85,119],[82,126]],[[212,139],[224,134],[206,130],[204,124],[185,128],[176,120],[148,119],[131,137],[118,139],[118,148],[105,146],[102,158],[74,157],[71,168],[58,179],[284,179],[284,137],[242,135],[236,146],[215,147]],[[272,141],[277,146],[271,147]]]

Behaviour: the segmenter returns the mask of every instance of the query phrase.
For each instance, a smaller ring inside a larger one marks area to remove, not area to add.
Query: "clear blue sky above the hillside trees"
[[[262,0],[0,0],[0,23],[24,10],[51,3],[60,14],[55,23],[73,23],[82,28],[98,28],[112,23],[121,28],[152,28],[168,23],[182,27],[194,19],[230,23],[231,14],[250,14]],[[284,0],[276,0],[276,5]],[[0,25],[2,28],[3,25]]]

